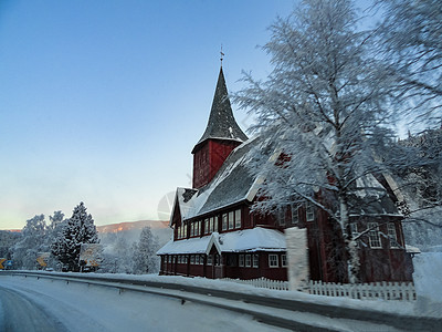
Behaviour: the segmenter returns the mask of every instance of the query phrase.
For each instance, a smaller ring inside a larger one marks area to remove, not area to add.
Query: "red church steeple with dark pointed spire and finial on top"
[[[230,153],[246,139],[233,117],[221,66],[208,125],[192,149],[193,188],[209,184]]]

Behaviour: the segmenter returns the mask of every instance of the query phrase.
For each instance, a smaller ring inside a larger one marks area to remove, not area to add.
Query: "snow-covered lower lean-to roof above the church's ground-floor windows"
[[[285,236],[275,229],[255,227],[202,238],[167,242],[157,255],[206,253],[214,246],[218,252],[284,251]]]

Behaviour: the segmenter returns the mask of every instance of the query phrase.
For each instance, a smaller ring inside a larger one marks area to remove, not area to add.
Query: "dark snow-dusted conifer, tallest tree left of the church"
[[[74,208],[60,236],[52,243],[52,255],[69,271],[78,271],[78,258],[82,243],[98,243],[98,235],[91,214],[86,212],[83,201]]]

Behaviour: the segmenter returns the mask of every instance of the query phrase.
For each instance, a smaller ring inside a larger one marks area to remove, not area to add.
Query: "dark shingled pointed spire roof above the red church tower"
[[[198,141],[193,152],[199,144],[210,138],[236,142],[244,142],[248,139],[248,136],[241,131],[233,117],[222,68],[218,76],[217,89],[214,91],[212,108],[210,111],[206,132]]]

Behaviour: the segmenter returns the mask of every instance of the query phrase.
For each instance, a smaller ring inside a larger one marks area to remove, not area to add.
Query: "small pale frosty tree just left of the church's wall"
[[[134,243],[134,273],[157,273],[159,270],[158,238],[152,235],[150,227],[143,228],[138,243]]]

